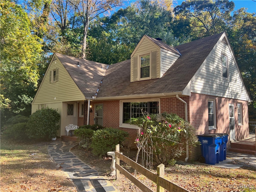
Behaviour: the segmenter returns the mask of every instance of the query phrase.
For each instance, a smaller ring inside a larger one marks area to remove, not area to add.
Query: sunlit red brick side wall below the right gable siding
[[[216,101],[216,128],[209,130],[208,126],[208,99]],[[228,99],[215,97],[205,94],[191,93],[189,98],[188,111],[190,123],[195,127],[197,134],[205,133],[227,133],[229,134],[229,103],[237,106],[237,103],[242,103],[243,125],[238,126],[237,109],[234,109],[234,122],[236,139],[241,140],[249,136],[248,122],[248,102],[236,99]],[[229,141],[230,138],[228,137]],[[230,147],[230,142],[227,143],[227,148]],[[200,156],[200,146],[193,148],[189,154],[189,159],[195,159]]]

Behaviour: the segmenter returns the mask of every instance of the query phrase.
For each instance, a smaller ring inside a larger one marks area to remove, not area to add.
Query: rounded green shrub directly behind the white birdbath
[[[92,153],[97,156],[105,156],[107,152],[114,151],[117,144],[122,144],[127,136],[129,134],[126,131],[119,129],[97,130],[92,136]]]

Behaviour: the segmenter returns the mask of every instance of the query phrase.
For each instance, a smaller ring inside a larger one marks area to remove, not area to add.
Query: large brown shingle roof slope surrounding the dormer
[[[97,97],[183,91],[222,34],[174,47],[179,50],[181,56],[161,78],[130,82],[131,60],[110,65]]]

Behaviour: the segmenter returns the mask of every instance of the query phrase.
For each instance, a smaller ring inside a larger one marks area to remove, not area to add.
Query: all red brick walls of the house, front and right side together
[[[236,139],[241,140],[249,136],[248,125],[248,103],[235,99],[214,97],[210,95],[191,93],[191,97],[181,97],[188,104],[188,121],[195,127],[197,134],[204,133],[228,133],[229,134],[229,107],[228,104],[242,103],[243,125],[238,126],[237,110],[234,111]],[[208,99],[216,101],[216,130],[210,130],[208,127]],[[118,128],[129,133],[129,140],[134,142],[137,136],[136,129],[119,127],[120,101],[91,101],[92,111],[90,113],[90,124],[94,124],[94,104],[103,104],[103,126]],[[176,113],[185,119],[185,105],[176,97],[160,99],[161,112]],[[78,107],[78,126],[83,125],[83,117],[79,117]],[[135,144],[133,144],[135,147]],[[227,144],[230,147],[230,143]],[[191,148],[189,159],[196,159],[200,156],[200,146]],[[184,157],[184,156],[183,156]]]

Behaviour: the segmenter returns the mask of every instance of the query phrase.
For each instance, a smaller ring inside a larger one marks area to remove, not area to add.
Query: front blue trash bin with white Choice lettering
[[[222,136],[218,134],[203,134],[198,135],[198,139],[201,142],[201,155],[204,157],[205,163],[209,165],[219,163]]]

